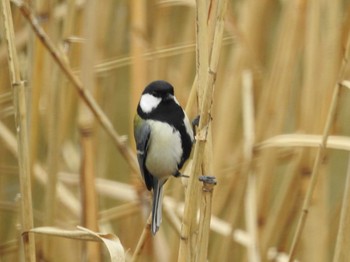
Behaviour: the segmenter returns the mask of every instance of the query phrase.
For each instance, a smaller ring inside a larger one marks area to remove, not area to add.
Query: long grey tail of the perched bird
[[[164,182],[153,179],[152,234],[155,235],[162,223],[162,202]]]

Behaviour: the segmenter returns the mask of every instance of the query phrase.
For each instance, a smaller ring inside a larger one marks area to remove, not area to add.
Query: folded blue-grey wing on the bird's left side
[[[137,160],[148,190],[151,190],[153,187],[153,177],[146,168],[147,149],[150,134],[151,128],[145,121],[142,124],[135,123],[134,136],[136,141]]]

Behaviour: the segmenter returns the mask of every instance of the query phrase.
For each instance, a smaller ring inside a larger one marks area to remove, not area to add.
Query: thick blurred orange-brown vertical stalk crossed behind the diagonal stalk
[[[97,1],[90,0],[86,6],[84,14],[83,35],[86,42],[83,45],[81,60],[81,79],[83,86],[90,93],[95,90],[95,50],[96,50],[96,7]],[[98,199],[95,188],[95,129],[94,117],[86,104],[79,104],[79,129],[81,134],[82,159],[81,159],[81,195],[83,199],[83,226],[99,231],[98,226]],[[101,246],[99,243],[86,243],[86,259],[87,261],[101,261]],[[84,252],[85,253],[85,252]]]

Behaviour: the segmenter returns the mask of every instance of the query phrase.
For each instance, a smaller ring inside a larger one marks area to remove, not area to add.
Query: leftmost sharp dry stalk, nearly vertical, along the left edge
[[[31,179],[29,168],[29,142],[27,127],[27,106],[24,83],[20,76],[17,52],[14,44],[14,29],[12,12],[9,0],[1,1],[2,17],[4,21],[5,37],[8,48],[8,63],[10,69],[11,84],[14,93],[15,121],[17,127],[18,165],[21,190],[21,224],[22,231],[33,228],[33,206],[31,193]],[[33,236],[23,236],[26,261],[36,261],[35,239]]]

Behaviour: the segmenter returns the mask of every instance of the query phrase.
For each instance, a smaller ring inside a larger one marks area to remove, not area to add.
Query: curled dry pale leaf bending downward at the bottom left
[[[56,227],[37,227],[29,230],[29,232],[77,240],[103,242],[108,249],[112,262],[125,261],[124,248],[116,235],[96,233],[80,226],[77,226],[77,228],[78,230],[63,230]]]

